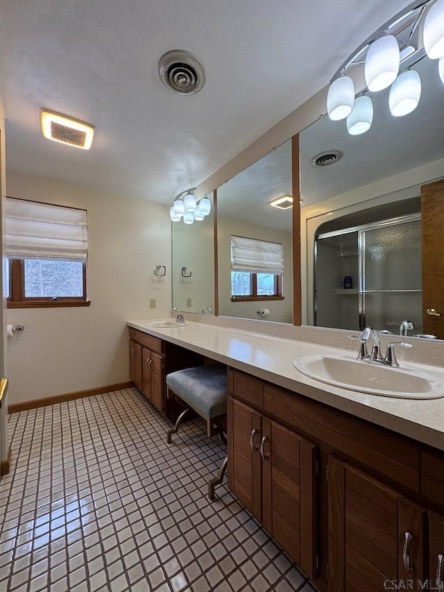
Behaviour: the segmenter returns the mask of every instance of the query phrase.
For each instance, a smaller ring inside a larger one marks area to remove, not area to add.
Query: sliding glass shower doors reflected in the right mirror
[[[315,324],[398,333],[402,319],[411,319],[421,332],[420,244],[420,214],[318,235]],[[346,275],[354,289],[343,289]]]

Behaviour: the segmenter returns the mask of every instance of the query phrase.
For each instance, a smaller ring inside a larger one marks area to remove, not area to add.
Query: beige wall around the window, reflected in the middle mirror
[[[217,219],[217,251],[219,279],[219,314],[242,319],[261,319],[258,310],[268,309],[264,321],[293,323],[293,239],[291,232],[253,226],[231,218]],[[231,235],[282,243],[284,249],[284,300],[260,302],[231,301]]]

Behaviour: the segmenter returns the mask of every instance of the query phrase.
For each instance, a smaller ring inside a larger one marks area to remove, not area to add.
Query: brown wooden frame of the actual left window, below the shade
[[[89,306],[87,300],[87,262],[83,261],[83,296],[57,296],[56,298],[35,298],[25,296],[25,260],[7,258],[9,265],[8,308],[53,308],[67,306]]]

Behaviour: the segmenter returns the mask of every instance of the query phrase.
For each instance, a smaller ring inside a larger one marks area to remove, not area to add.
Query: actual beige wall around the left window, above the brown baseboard
[[[129,380],[127,320],[169,315],[169,208],[129,196],[8,171],[7,194],[87,210],[89,307],[9,309],[25,325],[8,339],[10,400]],[[154,276],[155,264],[167,276]],[[157,299],[151,310],[149,299]]]

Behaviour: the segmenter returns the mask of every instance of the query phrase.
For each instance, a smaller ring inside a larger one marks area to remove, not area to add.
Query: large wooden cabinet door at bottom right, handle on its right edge
[[[329,591],[374,592],[386,581],[421,580],[425,511],[334,458],[329,475]]]

